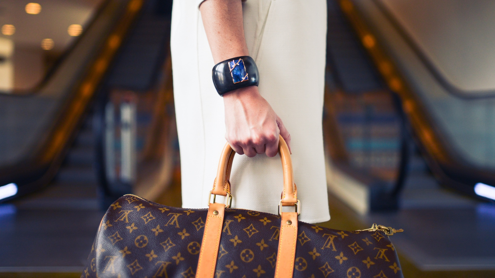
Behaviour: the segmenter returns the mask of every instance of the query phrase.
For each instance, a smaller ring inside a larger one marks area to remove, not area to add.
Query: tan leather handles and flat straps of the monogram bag
[[[289,147],[280,136],[279,154],[284,171],[284,190],[279,204],[279,215],[281,215],[279,246],[277,251],[277,265],[275,267],[275,278],[289,278],[293,276],[294,258],[296,256],[297,243],[297,215],[300,213],[299,200],[297,200],[297,188],[292,175],[292,160]],[[213,189],[208,198],[208,214],[204,225],[203,240],[199,251],[196,278],[213,278],[218,256],[218,246],[222,233],[225,208],[230,207],[232,196],[230,195],[230,171],[235,152],[227,143],[225,144],[220,162],[218,164],[217,176],[213,183]],[[216,203],[215,197],[211,201],[211,195],[225,196],[225,204]],[[282,212],[282,206],[296,206],[297,212]]]

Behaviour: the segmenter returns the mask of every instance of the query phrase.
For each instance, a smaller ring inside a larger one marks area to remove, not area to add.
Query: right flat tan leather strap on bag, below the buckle
[[[275,278],[289,278],[294,272],[297,240],[297,212],[283,212]]]

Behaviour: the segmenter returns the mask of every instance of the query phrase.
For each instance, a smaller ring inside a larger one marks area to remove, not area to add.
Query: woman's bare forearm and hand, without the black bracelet
[[[215,63],[249,55],[244,38],[241,0],[206,0],[199,10]],[[261,77],[262,78],[262,77]],[[291,135],[270,104],[250,86],[225,93],[225,139],[239,154],[275,156],[279,134],[291,143]]]

